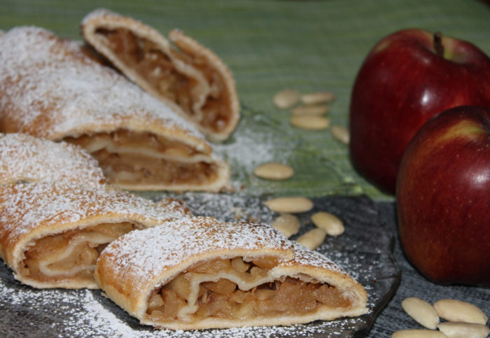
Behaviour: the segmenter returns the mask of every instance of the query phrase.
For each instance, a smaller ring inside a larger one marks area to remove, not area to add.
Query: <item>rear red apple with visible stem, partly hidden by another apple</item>
[[[383,38],[360,68],[351,96],[350,152],[360,174],[395,192],[403,152],[436,113],[490,108],[490,58],[471,43],[420,29]]]

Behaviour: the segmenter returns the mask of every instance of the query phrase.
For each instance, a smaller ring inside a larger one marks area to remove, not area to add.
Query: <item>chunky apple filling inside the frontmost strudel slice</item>
[[[348,309],[352,302],[337,288],[308,276],[269,274],[270,259],[216,259],[191,267],[155,288],[146,315],[158,322],[179,318],[244,320],[258,316],[313,314],[325,308]]]

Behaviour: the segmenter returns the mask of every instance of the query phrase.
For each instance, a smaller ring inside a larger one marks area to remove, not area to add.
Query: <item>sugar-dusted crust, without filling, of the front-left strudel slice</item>
[[[36,288],[97,288],[94,281],[66,278],[38,281],[23,271],[22,260],[37,239],[103,223],[152,227],[190,216],[177,199],[155,203],[110,185],[18,183],[0,189],[0,253],[15,278]]]

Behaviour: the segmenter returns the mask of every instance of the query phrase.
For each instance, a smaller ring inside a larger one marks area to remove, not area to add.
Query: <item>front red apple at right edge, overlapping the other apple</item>
[[[424,276],[490,286],[490,109],[451,108],[421,127],[396,205],[402,247]]]

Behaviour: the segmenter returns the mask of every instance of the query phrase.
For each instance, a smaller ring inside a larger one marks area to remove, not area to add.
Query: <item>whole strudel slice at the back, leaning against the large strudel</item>
[[[173,103],[214,141],[237,127],[239,101],[228,66],[208,48],[179,30],[170,43],[146,24],[109,10],[82,22],[85,41],[117,69],[165,103]]]

